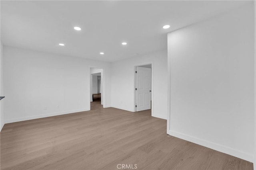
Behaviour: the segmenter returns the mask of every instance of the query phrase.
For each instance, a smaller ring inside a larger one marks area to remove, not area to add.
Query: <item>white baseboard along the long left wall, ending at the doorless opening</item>
[[[7,119],[7,120],[4,121],[4,123],[13,123],[13,122],[18,122],[18,121],[39,119],[39,118],[44,118],[44,117],[51,117],[51,116],[64,115],[64,114],[70,114],[70,113],[77,113],[77,112],[88,111],[88,110],[90,110],[90,109],[84,108],[84,109],[62,111],[62,112],[56,112],[56,113],[34,115],[34,116],[28,116],[28,117],[19,117],[19,118],[15,118],[15,119]]]

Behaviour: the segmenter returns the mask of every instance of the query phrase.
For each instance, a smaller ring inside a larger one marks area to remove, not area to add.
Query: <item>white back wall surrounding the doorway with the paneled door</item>
[[[134,66],[152,63],[152,116],[167,118],[167,51],[111,63],[112,107],[134,111]]]

